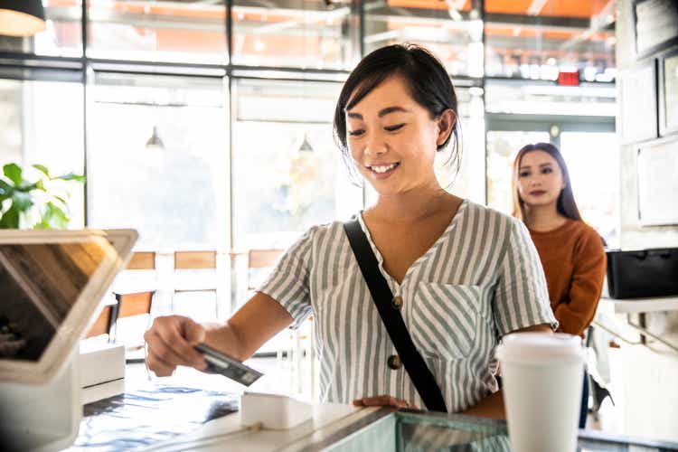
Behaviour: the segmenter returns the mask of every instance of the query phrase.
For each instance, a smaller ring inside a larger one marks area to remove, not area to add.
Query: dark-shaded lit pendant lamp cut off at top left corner
[[[0,34],[27,37],[45,27],[41,0],[0,0]]]

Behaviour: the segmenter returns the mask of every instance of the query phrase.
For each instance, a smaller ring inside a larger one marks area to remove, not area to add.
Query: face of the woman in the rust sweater
[[[528,206],[554,204],[565,188],[560,165],[548,152],[530,151],[518,167],[518,194]]]

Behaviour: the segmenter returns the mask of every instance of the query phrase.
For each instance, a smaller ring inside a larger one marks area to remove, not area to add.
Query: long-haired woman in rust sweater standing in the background
[[[593,320],[605,276],[605,250],[598,232],[581,220],[570,176],[556,146],[524,146],[513,162],[513,216],[524,221],[549,287],[558,331],[579,334]],[[584,378],[579,427],[589,399]]]

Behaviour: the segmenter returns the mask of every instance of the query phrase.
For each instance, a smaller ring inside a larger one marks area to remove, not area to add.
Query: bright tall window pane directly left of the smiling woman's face
[[[287,248],[315,224],[362,206],[334,144],[338,83],[238,80],[233,118],[237,249]]]

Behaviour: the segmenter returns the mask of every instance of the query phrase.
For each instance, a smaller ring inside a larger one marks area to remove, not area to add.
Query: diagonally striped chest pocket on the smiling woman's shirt
[[[471,353],[485,323],[481,288],[419,282],[410,335],[425,356],[453,361]]]

